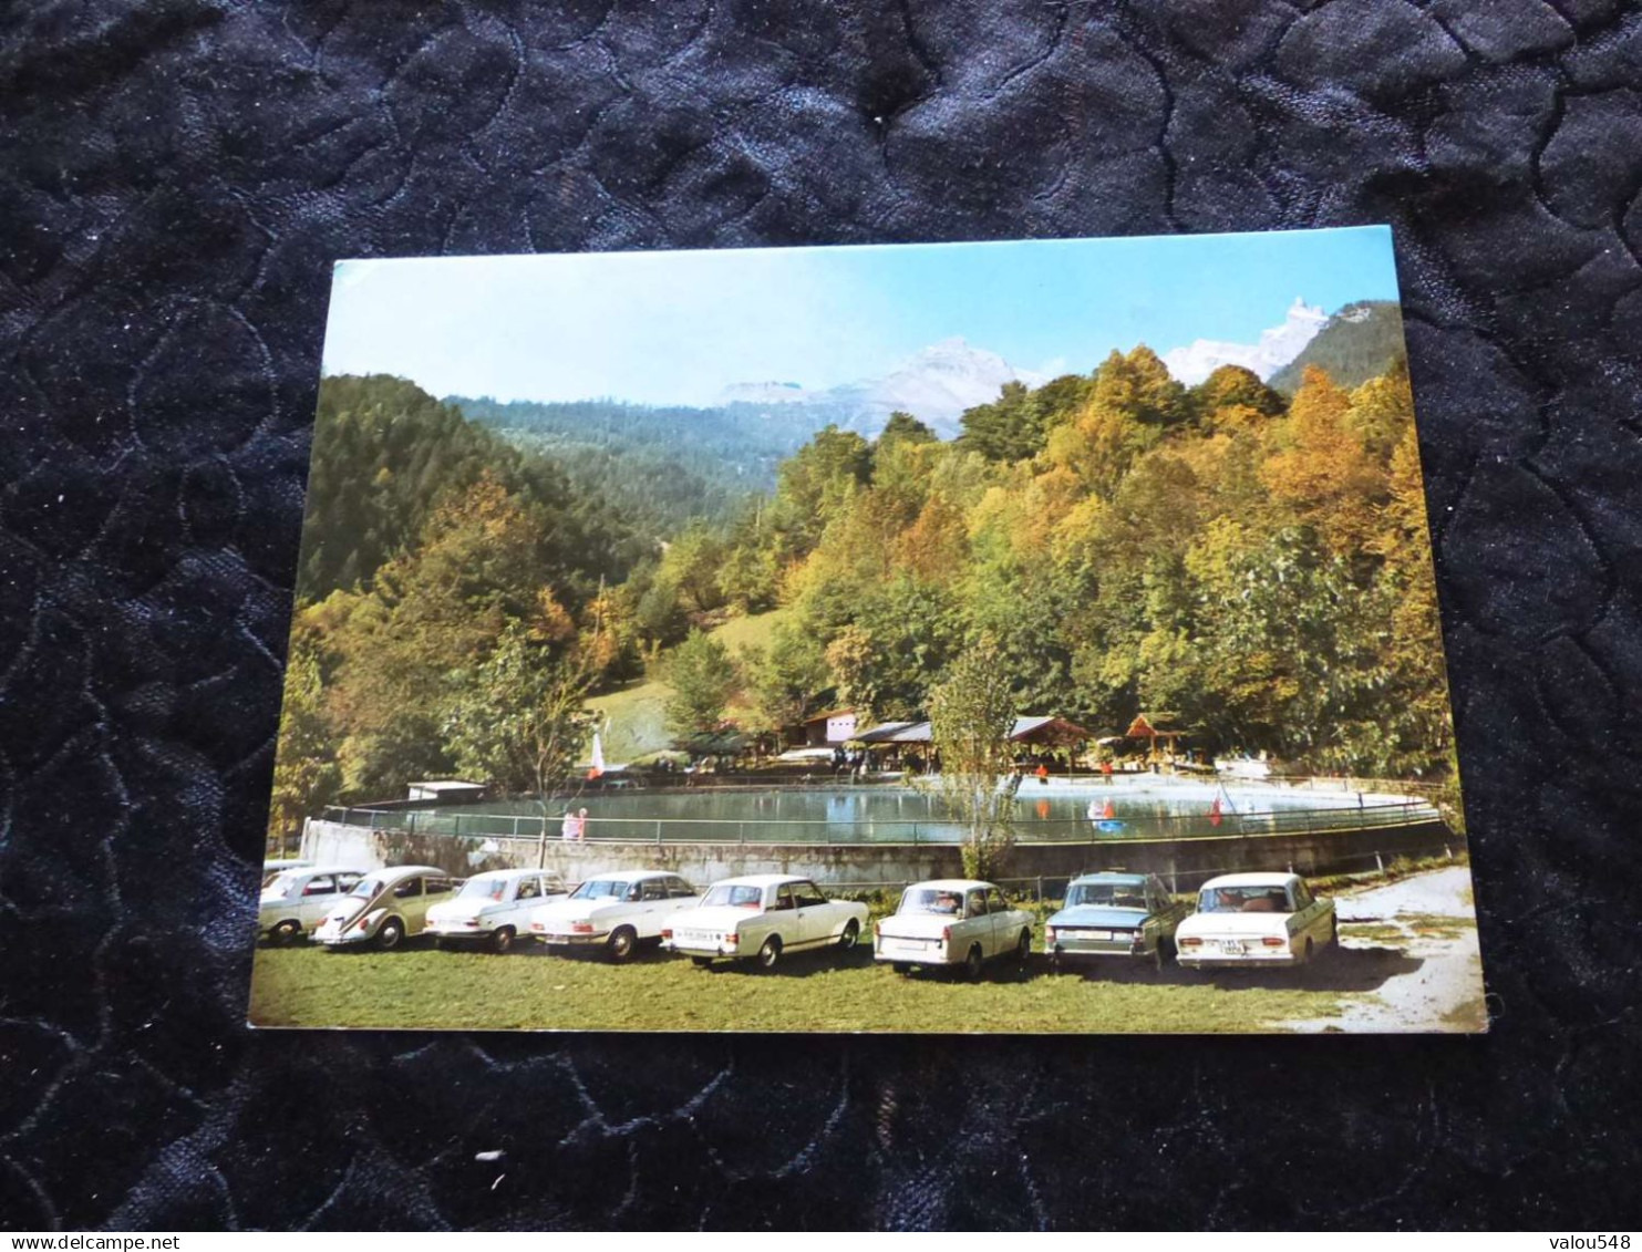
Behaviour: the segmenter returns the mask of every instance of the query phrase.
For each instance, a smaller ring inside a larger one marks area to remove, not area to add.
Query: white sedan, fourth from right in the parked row
[[[808,878],[754,875],[714,883],[701,907],[668,917],[662,947],[696,965],[755,960],[770,970],[788,952],[828,945],[847,952],[865,929],[865,904],[828,899]]]

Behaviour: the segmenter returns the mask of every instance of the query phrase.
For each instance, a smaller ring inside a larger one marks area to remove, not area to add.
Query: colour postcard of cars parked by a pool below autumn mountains
[[[340,263],[250,1019],[1484,1030],[1391,231]]]

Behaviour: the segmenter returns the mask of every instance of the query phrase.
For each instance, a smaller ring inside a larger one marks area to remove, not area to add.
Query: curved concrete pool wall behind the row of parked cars
[[[1427,816],[1363,830],[1018,842],[1010,853],[1008,881],[1064,881],[1090,870],[1125,868],[1158,873],[1174,889],[1190,891],[1217,873],[1291,868],[1302,875],[1350,873],[1373,870],[1394,857],[1435,857],[1463,847],[1463,837]],[[456,875],[540,863],[568,883],[617,870],[672,870],[698,886],[750,873],[805,875],[834,888],[905,884],[962,870],[956,843],[566,843],[558,837],[475,838],[317,819],[304,827],[302,855],[330,865],[437,865]]]

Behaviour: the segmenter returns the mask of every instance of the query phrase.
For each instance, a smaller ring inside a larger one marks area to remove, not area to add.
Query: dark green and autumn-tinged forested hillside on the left
[[[612,589],[654,560],[553,461],[404,379],[327,377],[273,825],[414,778],[562,776],[586,692],[637,668]]]

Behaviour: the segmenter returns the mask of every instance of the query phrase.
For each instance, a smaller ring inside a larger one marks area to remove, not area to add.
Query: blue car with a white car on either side
[[[1190,912],[1156,875],[1082,875],[1067,884],[1066,904],[1044,925],[1043,947],[1057,970],[1085,957],[1144,960],[1161,970]]]

